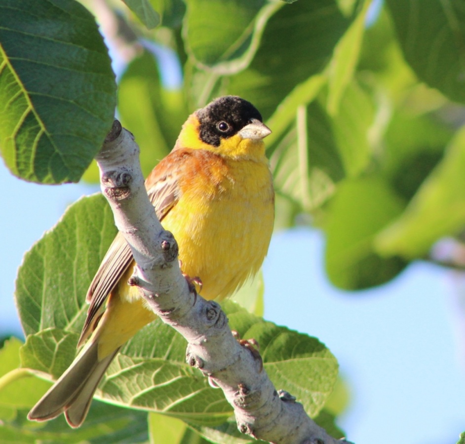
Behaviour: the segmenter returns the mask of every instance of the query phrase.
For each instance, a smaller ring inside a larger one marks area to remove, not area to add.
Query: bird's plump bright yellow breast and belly
[[[162,221],[179,245],[184,273],[198,276],[201,296],[230,296],[257,273],[274,222],[271,172],[263,158],[234,160],[209,153]],[[199,177],[201,175],[202,177]]]

